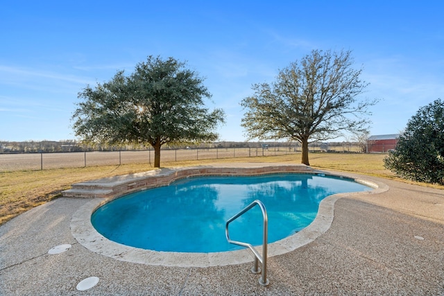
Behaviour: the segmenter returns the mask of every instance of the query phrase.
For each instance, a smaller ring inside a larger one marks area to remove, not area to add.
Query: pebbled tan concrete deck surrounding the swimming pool
[[[229,164],[234,165],[276,164]],[[386,184],[388,190],[336,200],[330,229],[296,250],[268,257],[267,287],[250,272],[253,259],[177,267],[92,252],[70,229],[74,214],[91,200],[58,198],[0,226],[0,295],[444,295],[444,191],[337,174]],[[72,246],[48,254],[62,244]],[[99,283],[76,290],[87,277],[99,277]]]

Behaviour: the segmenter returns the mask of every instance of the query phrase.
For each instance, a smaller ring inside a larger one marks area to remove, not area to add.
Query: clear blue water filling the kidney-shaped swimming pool
[[[268,243],[307,227],[323,198],[367,191],[368,186],[337,177],[273,174],[243,177],[190,177],[125,195],[94,211],[92,225],[123,245],[167,252],[224,252],[225,222],[253,200],[268,214]],[[262,212],[255,207],[230,223],[230,238],[262,244]]]

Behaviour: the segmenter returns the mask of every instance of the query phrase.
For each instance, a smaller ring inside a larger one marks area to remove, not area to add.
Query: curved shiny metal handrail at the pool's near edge
[[[230,234],[228,232],[228,225],[236,220],[237,218],[239,218],[240,216],[242,216],[243,214],[245,214],[247,211],[249,211],[250,209],[252,209],[253,207],[255,207],[255,205],[258,205],[262,211],[262,217],[264,218],[264,232],[263,232],[263,241],[262,241],[262,256],[259,254],[259,252],[257,252],[257,250],[255,249],[255,247],[253,247],[253,245],[251,245],[250,243],[243,243],[240,241],[232,241],[230,239]],[[242,211],[240,211],[238,214],[232,216],[232,218],[227,220],[227,223],[225,224],[225,236],[227,237],[227,241],[228,243],[232,243],[234,245],[241,245],[242,247],[248,247],[250,249],[251,252],[253,252],[253,254],[255,255],[255,264],[253,265],[253,268],[251,268],[251,271],[253,273],[260,273],[261,272],[261,268],[259,268],[259,264],[258,261],[260,263],[262,263],[262,275],[261,277],[259,277],[259,284],[261,284],[262,286],[268,286],[268,284],[270,284],[270,282],[268,281],[268,279],[266,278],[266,253],[267,253],[267,245],[268,245],[268,217],[266,214],[266,209],[264,204],[260,201],[260,200],[255,200],[254,202],[250,203],[245,209],[243,209]]]

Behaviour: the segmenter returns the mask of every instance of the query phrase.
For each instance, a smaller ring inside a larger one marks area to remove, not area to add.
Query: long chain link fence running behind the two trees
[[[369,149],[359,143],[312,143],[310,153],[387,153],[394,147],[375,147]],[[200,159],[222,159],[231,157],[259,157],[300,153],[300,145],[290,143],[288,146],[271,146],[243,148],[186,148],[162,149],[160,163],[180,162]],[[105,166],[146,163],[153,164],[154,150],[118,150],[87,151],[67,153],[3,153],[0,154],[0,172],[45,170],[51,168],[80,168],[86,166]]]

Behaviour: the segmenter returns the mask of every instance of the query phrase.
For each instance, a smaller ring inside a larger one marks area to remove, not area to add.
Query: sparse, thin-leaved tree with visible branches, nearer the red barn
[[[309,165],[309,143],[366,130],[361,115],[376,100],[359,100],[368,84],[352,66],[350,51],[314,50],[280,70],[275,82],[253,85],[254,94],[241,101],[248,138],[298,141]]]

